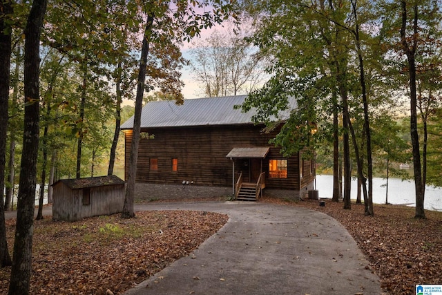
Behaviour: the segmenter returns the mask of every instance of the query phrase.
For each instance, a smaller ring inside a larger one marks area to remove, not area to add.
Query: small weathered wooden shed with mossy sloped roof
[[[58,180],[52,187],[54,220],[75,221],[123,209],[124,180],[115,175]]]

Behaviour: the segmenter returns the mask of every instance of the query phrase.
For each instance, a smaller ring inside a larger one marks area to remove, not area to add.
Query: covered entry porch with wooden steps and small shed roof
[[[232,161],[232,194],[237,200],[257,200],[265,189],[262,160],[269,147],[233,148],[226,155]]]

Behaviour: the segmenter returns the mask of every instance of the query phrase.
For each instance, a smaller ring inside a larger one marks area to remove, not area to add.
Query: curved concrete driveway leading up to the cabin
[[[227,213],[229,222],[126,295],[384,293],[352,236],[324,213],[256,202],[135,206],[177,209]]]

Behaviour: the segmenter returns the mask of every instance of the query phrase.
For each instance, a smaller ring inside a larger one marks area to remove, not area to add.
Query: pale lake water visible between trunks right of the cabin
[[[385,190],[383,187],[387,180],[383,178],[373,178],[373,202],[385,204]],[[316,175],[316,189],[320,198],[332,198],[333,175]],[[351,198],[356,199],[357,183],[352,180]],[[388,202],[390,204],[406,204],[414,207],[416,205],[416,195],[414,193],[414,182],[390,178],[388,180]],[[425,209],[442,211],[442,188],[427,185],[425,187]]]

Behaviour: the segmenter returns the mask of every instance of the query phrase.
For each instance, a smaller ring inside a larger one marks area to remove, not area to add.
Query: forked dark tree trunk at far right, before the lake
[[[412,139],[412,153],[413,153],[413,168],[414,168],[414,187],[416,193],[416,210],[414,218],[425,218],[425,210],[423,207],[425,185],[422,182],[421,173],[421,153],[419,149],[419,133],[417,130],[417,96],[416,96],[416,47],[418,32],[418,7],[417,4],[413,6],[414,10],[414,24],[412,46],[407,43],[407,36],[405,30],[407,27],[407,1],[401,1],[402,6],[402,26],[401,26],[401,41],[404,53],[408,60],[408,75],[410,78],[410,135]]]

